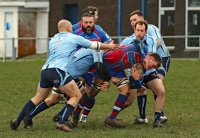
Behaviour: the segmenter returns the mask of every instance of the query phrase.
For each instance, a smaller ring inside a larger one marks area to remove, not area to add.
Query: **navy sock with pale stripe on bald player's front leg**
[[[64,107],[62,117],[59,120],[59,124],[65,124],[68,121],[69,116],[72,114],[74,107],[70,104],[66,104]]]

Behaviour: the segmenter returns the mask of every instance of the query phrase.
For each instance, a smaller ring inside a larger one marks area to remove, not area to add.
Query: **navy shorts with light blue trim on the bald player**
[[[63,86],[73,78],[66,72],[58,69],[58,68],[47,68],[41,71],[41,78],[39,82],[39,86],[41,88],[50,88]]]

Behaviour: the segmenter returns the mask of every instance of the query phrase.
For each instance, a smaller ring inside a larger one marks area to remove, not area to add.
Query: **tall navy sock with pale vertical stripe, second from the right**
[[[145,119],[146,118],[147,95],[145,94],[142,96],[137,96],[137,102],[138,102],[140,118]]]

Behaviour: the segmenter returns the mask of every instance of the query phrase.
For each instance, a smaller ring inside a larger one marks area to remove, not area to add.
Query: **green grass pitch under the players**
[[[112,85],[107,92],[96,97],[96,104],[87,123],[79,124],[72,133],[55,129],[52,117],[62,107],[57,104],[37,115],[34,128],[27,130],[23,123],[17,131],[10,129],[9,121],[16,118],[24,104],[35,95],[44,61],[0,63],[0,138],[198,138],[200,137],[200,61],[172,60],[164,80],[166,89],[163,128],[153,128],[154,100],[148,91],[147,125],[129,125],[138,115],[136,102],[122,111],[118,118],[126,124],[124,129],[105,126],[103,121],[112,110],[118,90]]]

